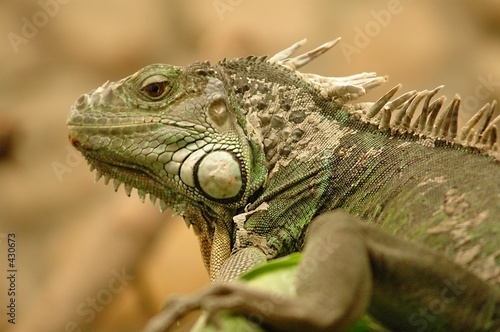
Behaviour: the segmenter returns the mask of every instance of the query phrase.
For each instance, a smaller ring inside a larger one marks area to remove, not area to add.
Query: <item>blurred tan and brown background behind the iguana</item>
[[[67,140],[70,105],[155,62],[342,42],[304,71],[376,71],[405,90],[500,97],[500,3],[461,1],[0,2],[0,330],[137,331],[172,293],[208,283],[191,230],[135,190],[96,185]],[[7,234],[15,234],[15,325]],[[185,326],[185,324],[183,325]]]

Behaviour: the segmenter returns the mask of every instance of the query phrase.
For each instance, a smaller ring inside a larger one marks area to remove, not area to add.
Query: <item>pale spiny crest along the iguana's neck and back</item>
[[[340,38],[337,38],[312,51],[290,58],[305,44],[306,39],[303,39],[267,61],[294,71],[299,77],[315,86],[324,98],[340,104],[353,101],[387,82],[387,76],[377,76],[376,73],[324,77],[297,70],[331,49],[339,41]],[[430,145],[437,141],[444,141],[475,148],[500,161],[500,148],[497,142],[500,115],[493,118],[496,101],[484,105],[461,130],[458,130],[461,103],[459,95],[455,95],[453,100],[443,108],[445,96],[432,100],[443,86],[430,91],[409,91],[393,99],[401,87],[401,84],[396,85],[374,103],[356,103],[347,110],[359,121],[377,126],[381,132],[390,132],[393,135],[414,135]]]

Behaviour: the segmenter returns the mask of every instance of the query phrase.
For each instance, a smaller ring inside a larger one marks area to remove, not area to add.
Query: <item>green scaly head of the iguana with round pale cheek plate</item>
[[[161,208],[237,208],[260,183],[249,177],[254,155],[236,106],[210,64],[155,64],[82,95],[69,137],[98,177],[158,197]]]

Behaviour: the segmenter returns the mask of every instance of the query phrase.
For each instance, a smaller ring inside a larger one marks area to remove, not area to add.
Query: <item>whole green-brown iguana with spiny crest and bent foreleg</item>
[[[460,97],[445,106],[441,87],[355,102],[387,77],[298,70],[338,40],[153,64],[72,106],[96,180],[183,216],[214,281],[149,331],[197,308],[279,331],[344,331],[365,312],[397,331],[500,330],[496,102],[460,131]],[[222,282],[297,251],[292,298]]]

